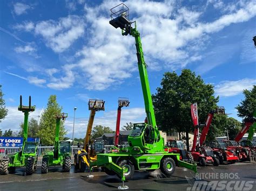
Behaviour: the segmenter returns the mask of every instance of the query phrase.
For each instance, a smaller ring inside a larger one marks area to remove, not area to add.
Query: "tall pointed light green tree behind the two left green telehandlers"
[[[55,140],[55,128],[56,128],[56,115],[62,112],[62,107],[57,103],[56,95],[50,95],[48,99],[47,108],[44,110],[40,123],[37,136],[41,138],[43,145],[53,145]],[[64,122],[60,121],[59,138],[62,140],[66,135],[64,129]]]

